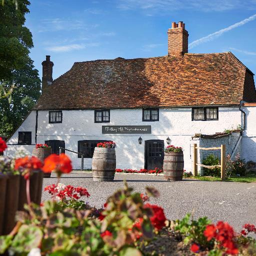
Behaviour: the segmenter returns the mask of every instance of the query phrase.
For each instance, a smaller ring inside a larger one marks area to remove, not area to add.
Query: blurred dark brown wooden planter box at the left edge
[[[41,170],[34,170],[30,177],[31,201],[39,204],[42,191]],[[24,210],[26,181],[22,175],[0,173],[0,235],[8,234],[15,226],[17,210]]]

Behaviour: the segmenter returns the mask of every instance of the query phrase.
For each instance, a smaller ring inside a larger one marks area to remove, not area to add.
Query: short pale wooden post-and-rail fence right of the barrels
[[[204,165],[201,163],[197,163],[197,149],[201,150],[218,150],[220,149],[220,165]],[[225,162],[225,152],[226,152],[226,145],[221,144],[219,147],[197,147],[197,144],[194,144],[194,154],[193,154],[193,174],[194,176],[197,176],[197,166],[202,166],[205,168],[213,169],[215,167],[220,167],[220,174],[221,174],[221,180],[225,179],[226,176],[226,162]]]

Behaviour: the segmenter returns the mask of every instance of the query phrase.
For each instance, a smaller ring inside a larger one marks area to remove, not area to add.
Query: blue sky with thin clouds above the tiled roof
[[[183,21],[189,52],[232,51],[256,73],[256,0],[30,0],[25,25],[41,77],[51,55],[53,78],[75,61],[167,54],[167,29]]]

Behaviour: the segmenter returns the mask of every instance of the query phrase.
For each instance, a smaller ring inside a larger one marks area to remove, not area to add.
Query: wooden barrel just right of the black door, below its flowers
[[[163,158],[163,176],[167,180],[182,180],[184,169],[183,152],[168,152]]]

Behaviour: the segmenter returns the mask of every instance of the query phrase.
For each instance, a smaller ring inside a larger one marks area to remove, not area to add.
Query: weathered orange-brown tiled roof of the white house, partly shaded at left
[[[185,53],[75,62],[46,86],[34,109],[238,105],[240,100],[256,102],[253,74],[231,52]]]

